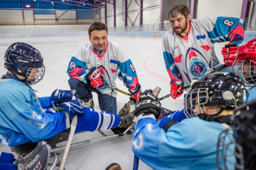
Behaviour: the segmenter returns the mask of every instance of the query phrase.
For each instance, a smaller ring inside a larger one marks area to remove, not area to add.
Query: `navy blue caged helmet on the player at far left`
[[[13,43],[6,49],[4,55],[4,67],[12,75],[20,79],[20,76],[28,84],[36,84],[44,77],[45,67],[41,53],[27,43]]]

